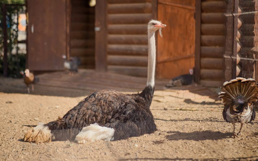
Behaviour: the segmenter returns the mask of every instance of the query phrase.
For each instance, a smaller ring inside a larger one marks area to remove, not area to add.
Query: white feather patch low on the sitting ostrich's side
[[[111,141],[114,139],[114,133],[115,130],[113,128],[102,127],[97,123],[90,124],[82,129],[82,131],[75,137],[75,141],[78,143],[97,140]]]

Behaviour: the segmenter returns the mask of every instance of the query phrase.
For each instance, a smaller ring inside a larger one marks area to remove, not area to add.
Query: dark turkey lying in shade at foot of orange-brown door
[[[169,81],[169,83],[166,85],[166,87],[175,87],[175,86],[181,86],[181,85],[191,85],[193,84],[193,70],[189,70],[189,74],[184,74],[181,76],[174,77]]]

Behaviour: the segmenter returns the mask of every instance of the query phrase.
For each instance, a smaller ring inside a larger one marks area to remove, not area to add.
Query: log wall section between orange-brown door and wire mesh
[[[201,1],[200,71],[196,72],[204,86],[220,87],[224,81],[224,12],[223,0]]]

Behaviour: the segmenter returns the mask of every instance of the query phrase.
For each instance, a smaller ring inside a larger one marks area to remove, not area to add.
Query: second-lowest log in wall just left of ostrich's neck
[[[108,65],[121,65],[121,66],[148,66],[148,56],[120,56],[108,55]]]

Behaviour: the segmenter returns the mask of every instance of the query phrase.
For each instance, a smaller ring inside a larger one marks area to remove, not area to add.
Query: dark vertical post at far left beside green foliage
[[[8,76],[8,65],[7,65],[7,28],[6,28],[6,6],[5,4],[2,5],[3,11],[3,34],[4,34],[4,77]]]

